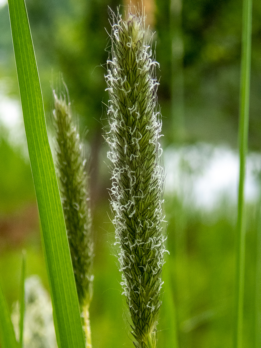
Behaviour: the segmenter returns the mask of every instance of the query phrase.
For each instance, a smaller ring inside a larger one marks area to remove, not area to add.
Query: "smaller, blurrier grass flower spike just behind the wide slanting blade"
[[[91,347],[89,304],[93,293],[93,242],[85,160],[79,134],[72,124],[70,103],[54,92],[56,157],[66,231],[69,240],[74,278],[82,315],[86,347]]]

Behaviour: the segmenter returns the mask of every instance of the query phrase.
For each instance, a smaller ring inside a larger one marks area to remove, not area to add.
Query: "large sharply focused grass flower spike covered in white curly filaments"
[[[112,161],[111,204],[122,286],[137,348],[155,348],[164,263],[163,168],[159,143],[161,121],[156,110],[157,81],[144,17],[119,15],[112,25],[109,90]]]

